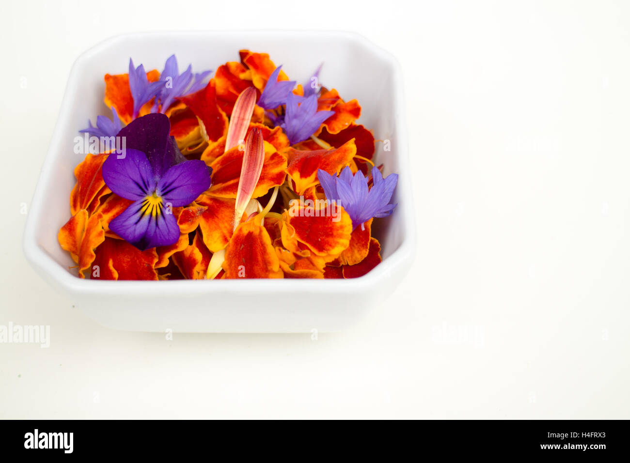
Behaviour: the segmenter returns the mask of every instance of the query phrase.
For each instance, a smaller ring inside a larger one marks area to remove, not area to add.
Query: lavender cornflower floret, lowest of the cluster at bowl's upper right
[[[304,98],[289,93],[282,128],[289,137],[290,144],[294,145],[309,138],[334,113],[335,111],[317,110],[317,95]]]

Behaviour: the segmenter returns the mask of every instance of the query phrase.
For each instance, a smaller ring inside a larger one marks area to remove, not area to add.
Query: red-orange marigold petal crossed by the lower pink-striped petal
[[[238,182],[243,167],[243,151],[236,146],[217,157],[212,163],[212,186],[208,193],[214,197],[236,198]],[[282,185],[285,179],[287,159],[278,153],[272,144],[265,142],[265,161],[252,198],[267,193],[270,188]]]

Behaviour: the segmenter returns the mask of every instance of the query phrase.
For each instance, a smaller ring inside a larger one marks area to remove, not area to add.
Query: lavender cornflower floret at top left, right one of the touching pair
[[[180,74],[177,58],[175,55],[169,56],[166,60],[166,64],[164,64],[164,71],[162,71],[159,77],[159,82],[162,84],[157,93],[159,103],[162,105],[160,112],[166,112],[175,98],[195,93],[205,87],[205,78],[211,73],[212,71],[203,71],[193,74],[192,65],[188,65],[186,71]],[[157,110],[157,99],[153,110]]]

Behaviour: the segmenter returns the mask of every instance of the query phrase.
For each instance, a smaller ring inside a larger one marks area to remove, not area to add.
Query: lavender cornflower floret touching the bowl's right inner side
[[[367,187],[367,177],[361,171],[354,176],[349,167],[341,171],[339,177],[318,169],[318,179],[324,189],[326,199],[338,202],[352,219],[352,229],[359,225],[364,229],[364,223],[372,217],[387,217],[396,204],[389,204],[394,193],[398,174],[390,174],[383,178],[379,168],[372,168],[374,184]]]

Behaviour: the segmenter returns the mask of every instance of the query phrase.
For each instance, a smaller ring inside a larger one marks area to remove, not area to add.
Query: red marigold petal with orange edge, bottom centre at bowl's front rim
[[[282,278],[280,260],[265,227],[254,220],[240,224],[226,246],[226,278]]]

